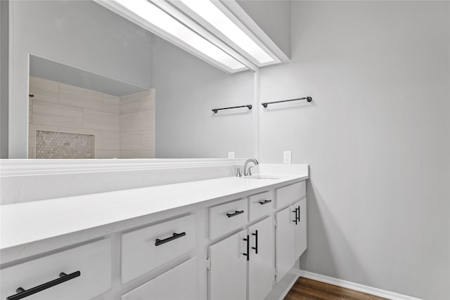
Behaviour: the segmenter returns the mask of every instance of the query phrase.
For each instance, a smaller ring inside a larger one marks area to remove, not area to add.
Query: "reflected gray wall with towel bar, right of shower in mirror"
[[[155,149],[158,158],[254,156],[254,72],[228,74],[153,38]]]

